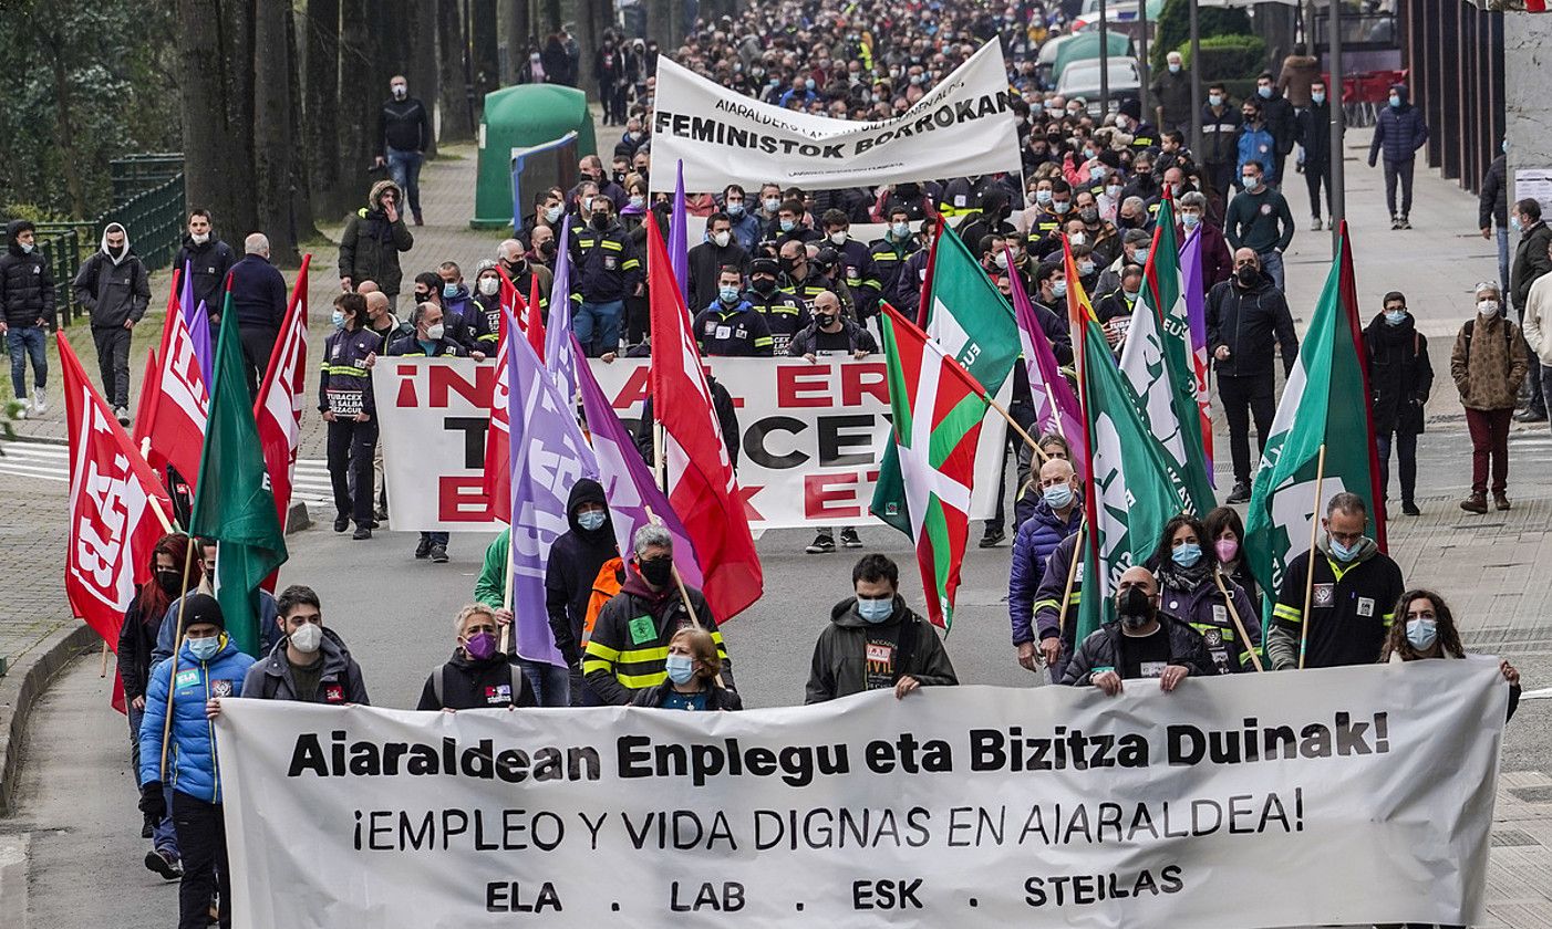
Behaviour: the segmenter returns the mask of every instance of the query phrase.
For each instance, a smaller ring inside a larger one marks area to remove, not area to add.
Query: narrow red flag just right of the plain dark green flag
[[[296,470],[296,445],[301,440],[303,394],[307,382],[307,265],[312,256],[301,257],[301,270],[292,285],[290,306],[281,323],[281,335],[275,340],[264,383],[253,403],[253,419],[259,428],[259,444],[264,445],[264,467],[270,473],[275,490],[275,510],[286,526],[290,510],[292,476]],[[265,582],[272,589],[275,577]]]

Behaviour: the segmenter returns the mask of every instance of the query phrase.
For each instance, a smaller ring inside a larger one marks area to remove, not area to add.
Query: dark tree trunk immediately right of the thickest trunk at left
[[[253,189],[259,230],[270,237],[270,259],[296,264],[296,222],[292,214],[290,68],[287,67],[286,5],[261,0],[253,17]]]

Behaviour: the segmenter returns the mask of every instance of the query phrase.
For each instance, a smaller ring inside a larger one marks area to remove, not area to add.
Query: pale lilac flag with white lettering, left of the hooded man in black
[[[506,330],[517,321],[506,313]],[[549,631],[545,566],[549,546],[570,529],[566,501],[579,478],[596,478],[598,461],[576,414],[560,400],[554,382],[526,338],[506,340],[508,417],[512,428],[512,634],[517,653],[529,661],[565,667]]]

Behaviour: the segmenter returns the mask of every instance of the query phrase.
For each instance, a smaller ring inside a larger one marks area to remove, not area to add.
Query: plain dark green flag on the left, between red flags
[[[275,513],[275,492],[253,420],[253,395],[242,366],[242,344],[231,295],[220,313],[210,422],[199,462],[199,485],[189,532],[220,543],[216,552],[216,600],[231,642],[259,653],[258,589],[286,563],[286,534]]]

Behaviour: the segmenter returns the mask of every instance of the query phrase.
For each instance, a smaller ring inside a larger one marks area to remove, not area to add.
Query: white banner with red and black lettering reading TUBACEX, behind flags
[[[591,361],[629,428],[641,419],[646,358]],[[868,515],[889,439],[882,355],[871,358],[708,358],[739,417],[739,487],[750,526],[854,526]],[[494,530],[481,492],[494,363],[383,358],[372,369],[394,524],[416,530]],[[1006,405],[1012,378],[999,394]],[[989,413],[976,447],[972,518],[992,515],[1007,425]]]

